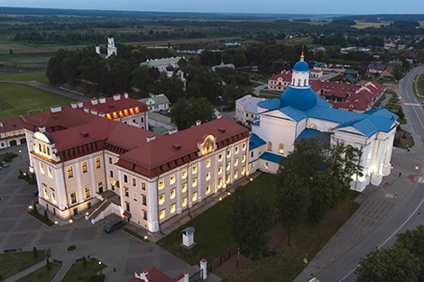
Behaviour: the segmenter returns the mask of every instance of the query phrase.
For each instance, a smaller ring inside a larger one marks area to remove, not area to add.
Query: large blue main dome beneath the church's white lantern
[[[300,111],[308,111],[317,105],[317,95],[310,87],[293,88],[289,86],[281,94],[280,107],[289,105]]]

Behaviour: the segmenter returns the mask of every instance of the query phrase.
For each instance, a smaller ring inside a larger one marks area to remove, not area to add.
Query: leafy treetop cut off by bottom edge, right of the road
[[[399,242],[392,248],[375,248],[359,259],[355,270],[356,282],[416,282],[418,274],[419,259]]]

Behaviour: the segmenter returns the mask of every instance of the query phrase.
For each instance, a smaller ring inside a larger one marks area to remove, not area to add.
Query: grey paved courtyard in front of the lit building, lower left
[[[51,248],[50,259],[59,259],[64,263],[54,281],[60,281],[69,266],[83,256],[97,258],[106,264],[107,268],[103,271],[106,282],[128,281],[134,277],[135,271],[143,271],[152,266],[161,269],[169,277],[177,277],[183,270],[190,275],[198,271],[198,266],[190,266],[152,242],[146,244],[120,230],[111,234],[104,232],[106,225],[116,215],[108,216],[96,224],[81,217],[74,223],[63,226],[57,224],[50,228],[34,220],[26,211],[36,200],[32,196],[35,186],[16,177],[19,175],[19,168],[23,171],[28,168],[26,146],[14,146],[2,150],[2,153],[17,153],[18,150],[23,150],[23,159],[17,157],[9,168],[0,170],[0,197],[4,199],[0,202],[0,250],[19,248],[27,251],[34,246],[38,250]],[[78,246],[78,250],[67,252],[66,248],[74,244]],[[208,281],[219,280],[214,275],[208,278]]]

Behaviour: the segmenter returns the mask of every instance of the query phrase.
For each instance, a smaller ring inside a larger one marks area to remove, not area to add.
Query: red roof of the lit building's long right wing
[[[147,177],[158,176],[198,159],[197,144],[205,134],[211,134],[216,138],[218,149],[250,136],[243,126],[221,118],[150,141],[122,155],[118,165]],[[179,144],[180,149],[174,144]]]

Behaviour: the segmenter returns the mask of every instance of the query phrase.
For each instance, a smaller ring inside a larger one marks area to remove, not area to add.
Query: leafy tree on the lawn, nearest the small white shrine
[[[236,189],[232,205],[233,210],[227,215],[226,223],[239,252],[237,268],[240,254],[253,262],[273,256],[275,251],[268,248],[272,205],[259,196],[248,198],[243,188]]]

